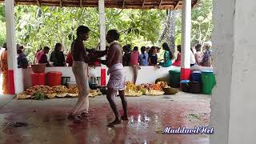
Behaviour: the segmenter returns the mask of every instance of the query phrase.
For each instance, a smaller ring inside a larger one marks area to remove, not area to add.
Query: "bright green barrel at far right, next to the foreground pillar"
[[[215,84],[215,75],[213,73],[202,73],[202,94],[211,94]]]

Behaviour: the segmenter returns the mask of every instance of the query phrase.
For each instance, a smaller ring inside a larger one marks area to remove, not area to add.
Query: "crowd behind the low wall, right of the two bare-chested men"
[[[190,49],[190,66],[211,66],[212,61],[212,50],[211,43],[206,42],[204,44],[204,50],[202,51],[202,45],[196,44]],[[159,58],[158,54],[160,53],[161,48],[157,46],[141,47],[141,53],[138,51],[138,46],[134,46],[134,49],[131,50],[131,45],[127,44],[122,46],[123,56],[122,56],[122,65],[131,66],[134,71],[134,84],[137,81],[138,70],[141,69],[140,66],[156,66],[160,68],[169,67],[169,66],[181,66],[182,54],[181,54],[181,45],[177,46],[178,54],[176,58],[174,53],[170,50],[170,47],[166,42],[162,44],[162,49],[164,50],[163,58]]]

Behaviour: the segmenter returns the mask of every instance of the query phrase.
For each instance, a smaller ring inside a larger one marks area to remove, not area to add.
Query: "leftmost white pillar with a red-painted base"
[[[17,71],[17,48],[15,42],[14,0],[5,0],[6,7],[6,43],[8,53],[8,80],[10,94],[16,94],[15,74]]]

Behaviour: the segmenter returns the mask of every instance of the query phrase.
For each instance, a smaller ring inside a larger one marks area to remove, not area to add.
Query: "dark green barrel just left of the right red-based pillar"
[[[169,82],[170,86],[174,88],[178,88],[180,86],[180,76],[181,71],[180,70],[170,70],[169,71]]]

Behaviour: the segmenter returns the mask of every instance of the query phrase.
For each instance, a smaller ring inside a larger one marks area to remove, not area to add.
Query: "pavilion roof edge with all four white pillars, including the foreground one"
[[[17,4],[38,4],[39,6],[89,6],[89,1],[64,0],[17,0]],[[3,2],[1,0],[1,2]],[[6,28],[9,57],[10,88],[15,94],[14,75],[16,69],[16,49],[14,39],[14,0],[6,0]],[[182,8],[182,78],[187,78],[190,70],[190,29],[191,6],[195,1],[90,1],[98,6],[101,23],[101,45],[105,43],[104,7],[141,9]],[[254,143],[255,141],[255,0],[214,0],[214,72],[217,85],[210,102],[210,125],[214,134],[210,143]],[[51,3],[51,5],[50,5]],[[72,5],[72,4],[73,5]],[[91,4],[90,3],[90,4]],[[113,3],[110,5],[110,3]],[[116,3],[114,5],[114,3]],[[83,5],[84,4],[84,5]],[[131,6],[134,5],[134,6]],[[154,108],[153,108],[154,109]]]

